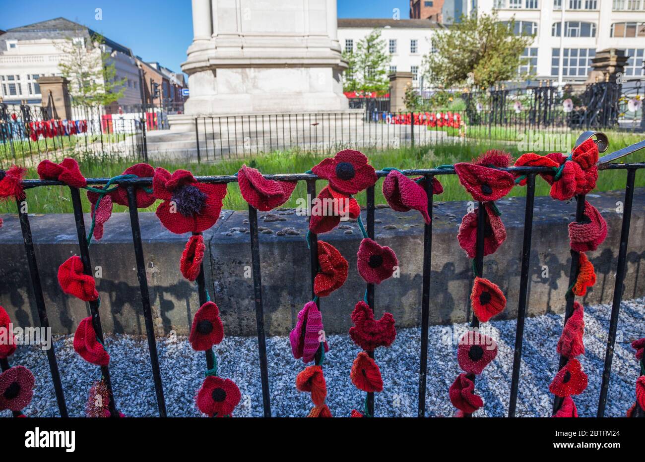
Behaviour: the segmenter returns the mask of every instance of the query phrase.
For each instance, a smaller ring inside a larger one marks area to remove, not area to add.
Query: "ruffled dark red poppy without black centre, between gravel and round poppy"
[[[391,313],[383,313],[378,321],[374,319],[374,313],[367,303],[356,303],[352,311],[352,322],[350,337],[353,342],[365,351],[374,351],[378,347],[389,347],[397,336],[397,329],[394,327],[394,316]]]

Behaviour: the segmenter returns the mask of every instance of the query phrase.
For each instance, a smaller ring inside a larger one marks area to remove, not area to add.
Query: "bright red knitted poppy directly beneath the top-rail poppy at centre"
[[[325,186],[317,197],[320,206],[312,207],[309,229],[312,233],[322,234],[332,231],[341,222],[341,217],[354,220],[361,215],[361,207],[356,199]]]

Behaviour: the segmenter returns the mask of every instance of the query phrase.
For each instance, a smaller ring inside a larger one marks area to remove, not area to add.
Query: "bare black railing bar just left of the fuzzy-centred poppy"
[[[132,242],[134,244],[134,255],[137,262],[137,279],[139,280],[139,292],[141,293],[141,307],[146,324],[146,336],[148,338],[148,351],[150,352],[150,365],[152,366],[152,378],[155,383],[157,394],[157,407],[159,416],[166,417],[166,401],[163,396],[163,384],[161,383],[161,371],[159,370],[159,357],[157,356],[157,342],[155,340],[155,327],[152,321],[152,309],[150,307],[150,293],[148,292],[148,277],[146,276],[146,262],[143,257],[143,244],[141,243],[141,227],[139,226],[139,211],[137,209],[137,197],[134,186],[128,186],[128,209],[130,211],[130,226],[132,227]]]

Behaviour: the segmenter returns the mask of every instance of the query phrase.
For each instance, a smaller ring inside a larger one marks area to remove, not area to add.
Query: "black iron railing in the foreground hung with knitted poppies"
[[[583,140],[588,139],[592,136],[597,137],[597,144],[599,145],[599,150],[604,151],[606,149],[606,137],[601,133],[586,132],[584,133],[576,142],[576,145],[580,144]],[[619,164],[611,163],[613,160],[620,159],[625,155],[628,155],[634,151],[645,148],[645,140],[628,146],[627,148],[620,149],[615,153],[611,153],[602,157],[599,160],[599,169],[600,175],[602,176],[603,170],[624,170],[626,171],[626,188],[624,195],[624,213],[622,218],[622,229],[620,232],[620,245],[619,245],[619,255],[617,259],[616,266],[616,278],[615,286],[613,291],[613,303],[611,307],[611,321],[610,328],[608,332],[608,338],[606,343],[606,355],[604,362],[604,371],[602,374],[602,386],[599,396],[597,415],[599,417],[604,416],[606,399],[608,394],[608,386],[610,381],[610,372],[611,372],[611,363],[613,359],[613,345],[615,343],[615,338],[617,334],[617,323],[619,317],[620,309],[620,300],[622,298],[622,287],[624,282],[624,276],[626,271],[626,256],[627,256],[627,244],[630,237],[630,218],[631,218],[631,207],[633,202],[633,192],[634,192],[634,183],[635,175],[639,169],[645,168],[645,163],[632,163],[632,164]],[[513,372],[511,377],[511,391],[509,396],[509,411],[508,416],[514,417],[517,408],[517,390],[520,381],[520,365],[522,358],[522,340],[524,338],[524,320],[526,318],[526,303],[527,303],[527,294],[528,294],[528,279],[530,271],[530,255],[531,255],[531,232],[533,229],[533,199],[535,197],[535,177],[540,173],[551,172],[550,168],[546,167],[512,167],[512,168],[499,168],[504,171],[511,171],[519,175],[526,175],[526,208],[524,215],[524,235],[522,243],[522,256],[521,256],[521,276],[520,276],[520,291],[519,291],[519,302],[518,302],[518,311],[517,311],[517,329],[515,335],[515,347],[514,347],[514,356],[513,356]],[[385,177],[389,172],[388,171],[377,171],[378,177]],[[403,175],[408,177],[410,176],[421,176],[425,178],[425,188],[428,196],[428,209],[432,210],[433,205],[433,194],[432,194],[432,178],[437,175],[454,175],[455,170],[453,168],[433,168],[433,169],[410,169],[401,171]],[[310,197],[316,196],[316,182],[320,178],[316,175],[310,173],[303,174],[283,174],[283,175],[264,175],[265,178],[270,180],[281,180],[281,181],[304,181],[307,185],[307,193]],[[213,177],[197,177],[197,181],[210,184],[226,184],[230,182],[237,182],[237,175],[229,176],[213,176]],[[139,227],[139,211],[137,209],[137,188],[149,187],[152,184],[152,178],[121,178],[114,181],[114,178],[88,178],[88,185],[106,185],[110,184],[119,184],[127,191],[128,204],[129,204],[129,213],[130,213],[130,224],[132,227],[132,242],[134,245],[134,252],[136,257],[136,266],[137,266],[137,277],[139,279],[139,288],[141,293],[141,305],[143,307],[143,313],[145,318],[145,327],[146,335],[148,338],[148,347],[150,351],[150,364],[152,369],[152,376],[154,379],[154,385],[157,396],[157,405],[159,408],[159,415],[166,416],[166,405],[164,401],[163,394],[163,383],[161,380],[161,372],[159,370],[159,360],[157,358],[157,348],[155,343],[155,333],[154,333],[154,323],[152,319],[152,311],[150,308],[150,296],[148,293],[148,280],[146,277],[146,265],[144,259],[143,245],[142,245],[142,236],[141,228]],[[64,183],[55,181],[55,180],[23,180],[23,186],[28,192],[29,189],[33,188],[52,188],[55,186],[66,186]],[[70,197],[72,199],[72,205],[74,207],[74,217],[75,225],[79,242],[79,253],[81,255],[81,260],[83,262],[84,274],[92,275],[92,264],[90,263],[90,250],[88,247],[88,241],[86,239],[86,228],[83,218],[83,208],[81,204],[81,196],[78,188],[70,187]],[[375,236],[375,200],[374,200],[374,186],[367,189],[367,200],[366,200],[366,233],[370,238]],[[583,220],[583,211],[585,197],[584,195],[578,195],[575,200],[577,201],[577,213],[576,220],[581,222]],[[17,200],[17,212],[19,215],[19,220],[21,224],[21,230],[25,242],[25,252],[28,262],[28,266],[31,274],[31,289],[34,293],[34,300],[37,307],[37,313],[39,315],[39,320],[41,327],[48,327],[48,318],[47,311],[45,306],[45,300],[43,298],[43,289],[41,285],[41,279],[39,276],[38,262],[34,250],[34,243],[32,239],[32,232],[30,230],[29,217],[26,213],[25,204],[27,203],[28,198],[24,200]],[[255,300],[255,320],[257,327],[257,339],[258,339],[258,352],[259,363],[260,363],[260,372],[261,372],[261,385],[262,385],[262,396],[263,396],[263,410],[264,416],[272,416],[271,412],[271,392],[270,384],[268,380],[268,362],[266,356],[266,339],[264,334],[264,304],[263,304],[263,284],[262,284],[262,268],[260,264],[260,251],[261,251],[261,241],[259,239],[258,231],[258,218],[257,210],[253,206],[249,206],[249,225],[250,225],[250,253],[252,256],[252,273],[253,273],[253,295]],[[477,255],[475,256],[474,264],[477,267],[479,274],[482,272],[482,264],[484,258],[484,233],[485,233],[485,212],[482,203],[479,203],[479,214],[477,218]],[[318,255],[317,255],[317,238],[315,235],[312,236],[310,241],[310,274],[311,274],[311,284],[312,284],[312,297],[315,296],[313,293],[313,281],[315,275],[318,271]],[[571,251],[571,269],[570,269],[570,286],[577,280],[577,275],[579,272],[578,267],[579,253],[576,251]],[[422,262],[422,301],[421,301],[421,345],[419,345],[419,398],[418,398],[418,416],[423,417],[426,414],[426,371],[428,369],[428,327],[429,327],[429,315],[430,310],[433,309],[431,303],[430,293],[430,277],[431,277],[431,264],[432,264],[432,221],[425,225],[424,227],[424,244],[423,244],[423,262]],[[203,305],[208,300],[208,295],[206,292],[206,280],[203,271],[203,265],[201,266],[199,276],[197,276],[197,287],[199,293],[199,303]],[[374,284],[367,284],[366,287],[366,302],[368,303],[370,309],[374,309],[375,305],[375,286]],[[97,302],[88,302],[90,306],[90,312],[92,313],[92,323],[94,325],[95,332],[101,343],[103,343],[103,330],[101,328],[101,315],[99,313],[99,305]],[[320,307],[320,302],[318,302]],[[324,305],[323,305],[324,306]],[[573,294],[569,291],[566,296],[566,311],[564,316],[564,323],[570,318],[573,313]],[[471,315],[471,327],[476,327],[478,325],[478,320],[475,316]],[[373,354],[373,352],[372,352]],[[63,386],[61,385],[61,374],[57,367],[57,361],[55,356],[54,347],[47,351],[48,361],[52,373],[52,381],[54,383],[55,394],[58,401],[59,412],[61,416],[68,416],[68,411],[66,409],[66,403],[63,393]],[[206,355],[208,361],[208,354]],[[8,360],[1,360],[0,366],[3,371],[7,370],[10,365]],[[210,363],[208,368],[211,369],[212,364],[212,354],[210,358]],[[560,367],[563,366],[561,361]],[[103,374],[104,379],[106,380],[106,385],[108,389],[112,390],[112,385],[110,381],[110,369],[108,366],[101,367],[101,373]],[[114,395],[112,395],[114,397]],[[559,399],[556,398],[554,401],[554,407],[559,405]],[[370,415],[374,416],[374,401],[373,394],[368,395],[367,407]],[[637,409],[637,415],[645,416],[645,410]],[[110,399],[110,415],[114,418],[119,417],[119,412],[117,412],[117,403],[115,399]]]

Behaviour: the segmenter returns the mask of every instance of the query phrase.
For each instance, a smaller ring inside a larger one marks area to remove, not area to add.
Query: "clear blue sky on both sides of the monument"
[[[406,19],[408,5],[407,0],[338,0],[338,15],[392,17],[393,8],[399,8],[400,17]],[[102,10],[100,21],[95,19],[95,8]],[[84,24],[128,46],[144,61],[157,61],[175,72],[181,71],[193,37],[190,0],[14,1],[10,8],[2,8],[0,29],[59,16]]]

